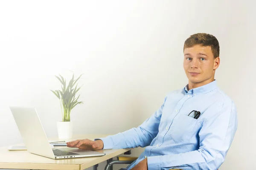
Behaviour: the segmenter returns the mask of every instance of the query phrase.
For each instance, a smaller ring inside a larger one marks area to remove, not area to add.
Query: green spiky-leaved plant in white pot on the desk
[[[58,138],[59,139],[70,139],[73,134],[73,125],[70,122],[70,112],[71,110],[78,104],[83,102],[79,102],[79,96],[76,97],[76,93],[80,90],[77,88],[78,80],[82,75],[80,75],[77,79],[74,79],[74,74],[72,79],[70,79],[68,85],[66,86],[66,79],[64,79],[61,75],[55,76],[61,82],[61,90],[52,91],[55,96],[60,100],[61,105],[61,113],[62,113],[62,121],[57,122],[57,130],[58,130]],[[75,86],[76,85],[76,86]],[[75,88],[74,88],[75,87]]]

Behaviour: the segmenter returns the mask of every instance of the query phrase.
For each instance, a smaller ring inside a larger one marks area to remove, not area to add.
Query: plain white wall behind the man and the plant
[[[239,115],[220,170],[256,169],[254,7],[249,0],[0,1],[0,146],[22,142],[9,105],[36,107],[47,136],[57,136],[61,110],[49,89],[60,88],[54,75],[69,78],[68,70],[84,74],[75,133],[137,127],[186,85],[183,42],[207,32],[220,42],[215,78]]]

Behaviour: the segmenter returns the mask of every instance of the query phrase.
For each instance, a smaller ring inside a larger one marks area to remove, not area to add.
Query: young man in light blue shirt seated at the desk
[[[184,43],[188,85],[172,91],[142,125],[91,141],[68,142],[87,150],[146,147],[128,170],[217,170],[237,129],[236,106],[214,79],[220,64],[218,40],[191,35]]]

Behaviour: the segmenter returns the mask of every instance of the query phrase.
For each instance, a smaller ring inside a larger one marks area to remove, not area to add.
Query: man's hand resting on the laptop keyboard
[[[67,142],[67,147],[77,147],[84,150],[102,150],[102,140],[92,141],[90,139],[81,139],[72,142]]]

